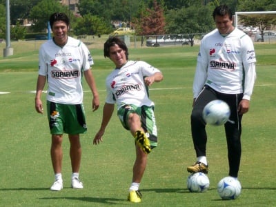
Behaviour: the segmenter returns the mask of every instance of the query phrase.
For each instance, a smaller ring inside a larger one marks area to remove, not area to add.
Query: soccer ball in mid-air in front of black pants
[[[219,126],[225,124],[230,117],[228,104],[221,100],[210,101],[202,112],[202,117],[207,124]]]

